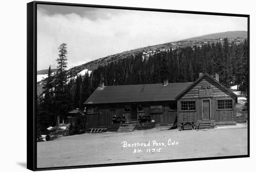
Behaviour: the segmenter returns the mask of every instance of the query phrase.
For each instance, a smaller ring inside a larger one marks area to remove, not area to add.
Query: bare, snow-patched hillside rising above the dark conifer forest
[[[244,41],[245,38],[247,38],[247,32],[246,31],[234,31],[234,32],[221,32],[221,33],[214,33],[209,35],[203,35],[195,38],[188,38],[180,41],[173,41],[165,44],[160,45],[152,45],[147,46],[143,48],[138,48],[130,51],[124,51],[115,55],[110,55],[107,57],[102,57],[99,59],[96,59],[94,61],[88,62],[86,64],[81,64],[79,66],[76,66],[74,68],[71,68],[67,70],[68,78],[74,78],[79,74],[84,73],[85,71],[92,71],[97,69],[99,65],[106,65],[111,62],[115,62],[117,60],[127,58],[127,57],[135,57],[136,54],[141,53],[142,57],[149,57],[150,55],[156,54],[161,51],[167,51],[167,50],[174,50],[179,47],[187,47],[187,46],[199,46],[201,47],[203,44],[211,44],[220,42],[223,44],[223,38],[228,38],[229,42],[236,41],[236,44],[240,44]],[[45,78],[47,74],[47,70],[40,70],[38,73],[38,87],[37,87],[37,93],[40,94],[42,92],[42,83],[43,80],[40,81],[40,79]],[[43,77],[42,77],[43,76]]]

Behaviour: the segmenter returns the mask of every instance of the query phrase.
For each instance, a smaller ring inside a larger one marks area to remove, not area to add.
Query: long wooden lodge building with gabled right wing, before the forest
[[[218,78],[200,73],[194,83],[103,84],[84,102],[86,126],[111,128],[123,122],[136,123],[140,129],[172,126],[175,118],[178,127],[187,122],[198,127],[206,121],[212,127],[236,124],[237,96]],[[119,124],[114,124],[113,117]]]

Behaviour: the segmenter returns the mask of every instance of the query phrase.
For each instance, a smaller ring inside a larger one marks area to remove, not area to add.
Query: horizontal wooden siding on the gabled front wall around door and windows
[[[210,86],[213,95],[209,97],[200,97],[199,89],[202,86]],[[201,82],[191,88],[184,96],[178,100],[178,123],[182,121],[200,121],[202,120],[202,100],[210,101],[210,119],[219,121],[236,121],[236,102],[229,96],[229,92],[223,89],[210,79],[203,79]],[[217,109],[217,100],[232,99],[233,109]],[[195,111],[181,111],[181,101],[195,101]]]

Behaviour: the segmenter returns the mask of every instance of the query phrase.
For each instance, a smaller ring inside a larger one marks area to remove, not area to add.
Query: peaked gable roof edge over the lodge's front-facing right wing
[[[213,82],[215,82],[217,85],[219,85],[222,89],[225,89],[229,92],[229,96],[233,97],[236,102],[237,102],[237,95],[235,93],[233,93],[230,89],[228,89],[227,87],[225,87],[224,85],[222,85],[220,82],[216,81],[216,79],[214,79],[212,76],[210,76],[208,73],[203,74],[202,76],[200,76],[193,84],[191,84],[188,88],[186,88],[185,90],[182,91],[182,93],[180,93],[178,96],[175,97],[175,99],[179,99],[181,98],[183,95],[185,95],[190,89],[192,89],[197,83],[199,83],[203,78],[209,78],[210,80],[212,80]]]

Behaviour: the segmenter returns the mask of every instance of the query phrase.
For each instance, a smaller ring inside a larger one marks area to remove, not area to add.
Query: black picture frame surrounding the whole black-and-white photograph
[[[232,13],[209,13],[209,12],[196,12],[196,11],[181,11],[181,10],[168,10],[168,9],[153,9],[153,8],[139,8],[139,7],[125,7],[125,6],[103,6],[103,5],[89,5],[89,4],[73,4],[73,3],[60,3],[60,2],[46,2],[46,1],[33,1],[27,3],[27,169],[32,171],[41,170],[57,170],[57,169],[72,169],[72,168],[88,168],[88,167],[101,167],[101,166],[123,166],[123,165],[138,165],[138,164],[151,164],[151,163],[165,163],[165,162],[179,162],[179,161],[195,161],[195,160],[209,160],[209,159],[231,159],[231,158],[245,158],[249,157],[250,151],[250,137],[249,137],[249,101],[248,101],[248,154],[239,156],[222,156],[222,157],[205,157],[205,158],[192,158],[192,159],[172,159],[172,160],[155,160],[143,162],[129,162],[129,163],[116,163],[116,164],[99,164],[99,165],[84,165],[84,166],[59,166],[37,168],[37,138],[36,138],[36,71],[37,71],[37,5],[60,5],[60,6],[82,6],[82,7],[97,7],[97,8],[111,8],[111,9],[124,9],[124,10],[140,10],[140,11],[154,11],[154,12],[170,12],[170,13],[188,13],[188,14],[206,14],[206,15],[221,15],[221,16],[235,16],[246,17],[248,19],[248,44],[249,37],[249,15],[247,14],[232,14]],[[248,46],[248,53],[249,53]],[[249,56],[249,55],[248,55]],[[249,69],[249,59],[248,59]],[[249,83],[249,75],[248,75]],[[248,87],[248,93],[249,93]],[[249,94],[248,94],[249,100]]]

